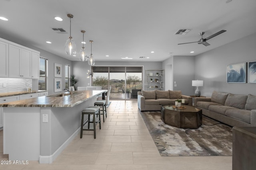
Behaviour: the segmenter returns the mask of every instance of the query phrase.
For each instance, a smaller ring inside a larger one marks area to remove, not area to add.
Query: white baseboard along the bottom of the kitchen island
[[[80,133],[80,127],[50,156],[39,156],[40,164],[51,164],[61,152],[70,144],[70,142]]]

